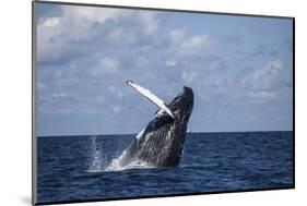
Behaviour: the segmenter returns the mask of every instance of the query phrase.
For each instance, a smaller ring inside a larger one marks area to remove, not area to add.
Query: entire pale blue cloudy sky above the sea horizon
[[[130,134],[194,93],[191,132],[293,130],[290,19],[36,3],[37,134]]]

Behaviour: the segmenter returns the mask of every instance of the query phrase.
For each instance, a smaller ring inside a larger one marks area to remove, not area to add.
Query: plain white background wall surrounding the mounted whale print
[[[199,10],[296,17],[296,189],[167,198],[73,204],[144,205],[304,205],[306,204],[306,37],[307,12],[302,0],[74,0],[74,2]],[[1,205],[31,204],[31,1],[3,1],[1,25]]]

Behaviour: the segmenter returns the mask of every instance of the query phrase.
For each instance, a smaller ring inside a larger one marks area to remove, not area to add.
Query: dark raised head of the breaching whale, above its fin
[[[179,94],[168,104],[168,108],[173,111],[176,120],[186,123],[193,109],[193,90],[184,86]]]

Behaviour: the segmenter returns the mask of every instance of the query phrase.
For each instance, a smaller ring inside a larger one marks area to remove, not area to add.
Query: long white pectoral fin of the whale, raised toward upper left
[[[132,81],[127,81],[127,84],[134,88],[137,92],[139,92],[141,95],[150,99],[152,102],[154,102],[161,110],[165,111],[169,117],[175,119],[175,116],[172,110],[165,105],[165,102],[161,98],[155,96],[152,92],[146,88],[143,88],[142,86],[138,85]]]

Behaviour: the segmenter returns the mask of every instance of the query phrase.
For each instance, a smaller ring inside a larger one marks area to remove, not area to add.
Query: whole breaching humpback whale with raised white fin
[[[193,108],[193,92],[184,86],[180,93],[165,104],[150,90],[132,81],[127,84],[153,101],[158,110],[154,118],[130,143],[127,149],[110,162],[108,169],[123,168],[140,161],[152,167],[179,165],[187,134],[187,124]]]

